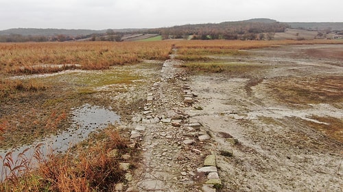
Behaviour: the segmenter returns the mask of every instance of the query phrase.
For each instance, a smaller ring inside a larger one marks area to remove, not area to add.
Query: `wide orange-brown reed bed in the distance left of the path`
[[[70,68],[107,69],[167,59],[173,42],[45,42],[0,44],[0,72],[36,74]]]

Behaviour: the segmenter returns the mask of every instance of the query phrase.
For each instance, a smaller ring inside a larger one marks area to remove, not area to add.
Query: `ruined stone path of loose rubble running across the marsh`
[[[197,95],[179,65],[174,59],[165,61],[160,81],[147,92],[144,110],[132,118],[130,139],[139,143],[143,161],[127,191],[215,191],[213,184],[221,184],[215,155],[208,149],[211,137],[201,124],[189,122],[185,113]],[[211,159],[209,165],[204,159]]]

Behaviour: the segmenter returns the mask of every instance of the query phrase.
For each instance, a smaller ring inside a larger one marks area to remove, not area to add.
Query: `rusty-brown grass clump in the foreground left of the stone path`
[[[90,141],[87,149],[78,146],[63,155],[51,154],[49,159],[36,150],[36,170],[29,167],[32,159],[25,157],[17,165],[12,162],[12,153],[8,153],[3,165],[10,172],[1,182],[0,191],[113,191],[115,184],[123,181],[125,172],[119,169],[119,161],[121,154],[130,152],[128,141],[113,126],[97,137],[105,141]],[[113,149],[118,150],[117,156],[108,155]]]

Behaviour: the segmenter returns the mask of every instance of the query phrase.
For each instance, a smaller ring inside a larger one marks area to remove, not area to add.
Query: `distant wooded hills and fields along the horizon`
[[[270,18],[252,18],[241,21],[226,21],[222,23],[189,24],[155,29],[35,29],[17,28],[0,31],[0,42],[27,41],[68,41],[68,40],[128,40],[130,36],[151,34],[161,35],[163,39],[193,38],[202,40],[271,40],[274,33],[286,32],[286,29],[304,29],[309,31],[334,31],[342,33],[343,23],[286,23]],[[108,32],[110,31],[110,33]],[[303,32],[302,32],[303,33]],[[297,34],[297,33],[294,33]],[[293,33],[286,34],[294,36]],[[311,35],[313,34],[311,33]],[[281,36],[279,38],[282,38]],[[298,38],[298,36],[296,36]],[[131,38],[134,40],[134,38]]]

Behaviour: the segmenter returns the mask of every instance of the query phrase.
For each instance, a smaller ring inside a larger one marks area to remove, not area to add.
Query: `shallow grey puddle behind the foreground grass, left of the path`
[[[102,130],[109,124],[120,124],[120,116],[104,107],[86,104],[80,108],[74,109],[72,114],[73,124],[68,131],[63,131],[59,135],[40,139],[39,141],[35,141],[32,145],[15,148],[10,155],[8,154],[9,151],[0,150],[0,156],[3,157],[0,160],[0,167],[3,167],[4,163],[8,163],[9,160],[13,160],[13,165],[11,166],[15,167],[16,165],[23,163],[25,159],[33,159],[34,150],[40,143],[43,143],[43,146],[40,146],[40,152],[42,152],[43,157],[46,157],[48,154],[51,154],[51,152],[58,153],[67,151],[70,147],[86,139],[90,133]],[[5,158],[6,154],[8,154],[7,160]],[[34,164],[34,162],[32,163]],[[2,172],[1,174],[4,175],[5,173]]]

